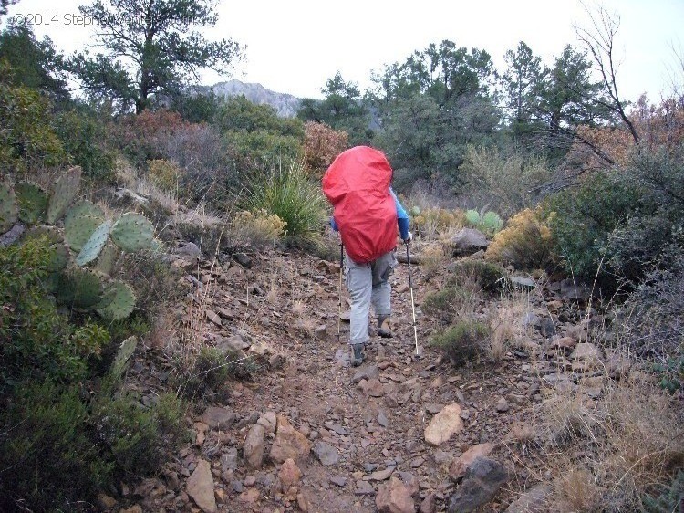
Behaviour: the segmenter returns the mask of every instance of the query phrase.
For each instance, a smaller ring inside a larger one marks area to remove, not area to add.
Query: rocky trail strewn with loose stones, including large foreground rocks
[[[391,277],[394,338],[371,337],[367,361],[353,368],[345,321],[337,340],[338,264],[272,251],[176,265],[194,269],[181,281],[188,296],[176,312],[178,333],[240,351],[261,371],[229,382],[229,393],[190,414],[192,444],[161,476],[123,486],[119,499],[102,497],[110,511],[542,510],[534,504],[547,490],[534,485],[544,463],[525,426],[548,387],[576,387],[571,373],[556,371],[581,366],[577,350],[590,349],[578,344],[586,325],[544,333],[563,324],[550,313],[562,304],[558,294],[539,299],[538,317],[528,314],[537,326],[531,343],[554,358],[513,351],[455,369],[428,343],[432,323],[420,301],[435,285],[420,266],[411,267],[422,348],[415,356],[408,268],[399,264]],[[343,288],[346,311],[347,298]],[[161,358],[136,358],[129,386],[144,403],[169,370]],[[483,457],[472,464],[476,456]]]

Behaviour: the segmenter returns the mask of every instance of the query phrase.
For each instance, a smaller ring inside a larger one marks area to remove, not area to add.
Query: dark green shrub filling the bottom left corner
[[[0,510],[72,511],[109,485],[113,463],[88,435],[76,386],[24,382],[0,408]]]

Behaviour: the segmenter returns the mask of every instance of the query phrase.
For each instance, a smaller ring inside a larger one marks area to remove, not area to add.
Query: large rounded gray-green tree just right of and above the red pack
[[[465,145],[488,140],[499,122],[488,92],[494,78],[487,52],[442,41],[374,79],[377,145],[398,170],[399,189],[418,178],[459,185]]]

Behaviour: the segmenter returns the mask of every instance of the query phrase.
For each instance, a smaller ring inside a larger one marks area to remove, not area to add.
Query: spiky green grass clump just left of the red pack
[[[248,210],[264,209],[285,225],[285,243],[306,247],[316,244],[326,215],[326,200],[320,185],[306,173],[302,162],[279,166],[257,183],[248,198]]]

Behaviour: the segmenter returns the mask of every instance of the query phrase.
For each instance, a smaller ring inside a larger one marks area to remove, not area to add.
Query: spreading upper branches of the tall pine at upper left
[[[96,0],[79,7],[99,26],[107,54],[78,52],[72,69],[95,99],[131,103],[140,113],[155,94],[173,96],[202,68],[220,73],[242,57],[232,38],[212,42],[196,27],[217,22],[214,0]]]

